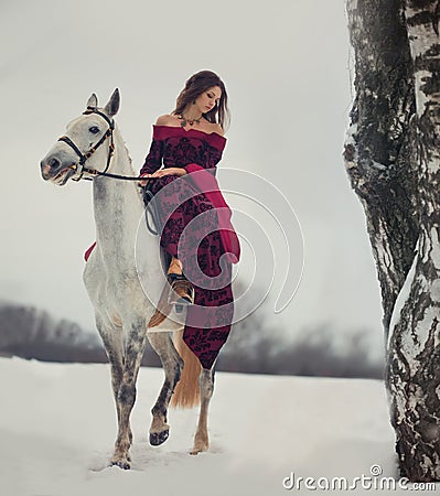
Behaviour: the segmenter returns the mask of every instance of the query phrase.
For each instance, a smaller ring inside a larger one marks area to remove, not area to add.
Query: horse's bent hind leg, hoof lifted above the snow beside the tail
[[[159,398],[151,410],[153,418],[150,427],[150,444],[159,446],[169,436],[170,425],[167,423],[167,412],[182,373],[183,360],[174,347],[171,333],[149,333],[148,338],[159,355],[165,374]]]

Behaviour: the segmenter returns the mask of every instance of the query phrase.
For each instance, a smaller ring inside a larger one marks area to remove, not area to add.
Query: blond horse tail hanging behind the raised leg
[[[193,408],[200,405],[198,376],[201,363],[183,341],[183,330],[174,333],[174,346],[184,362],[182,375],[171,399],[174,408]]]

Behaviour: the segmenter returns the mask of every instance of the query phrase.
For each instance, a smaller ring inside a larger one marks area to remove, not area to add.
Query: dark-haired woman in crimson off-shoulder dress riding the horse
[[[230,331],[232,263],[239,242],[230,211],[215,180],[226,144],[227,94],[210,72],[194,74],[175,109],[158,118],[140,171],[154,195],[160,244],[171,257],[168,280],[189,306],[183,339],[204,368],[212,368]],[[163,168],[161,168],[163,164]],[[222,258],[222,261],[221,261]]]

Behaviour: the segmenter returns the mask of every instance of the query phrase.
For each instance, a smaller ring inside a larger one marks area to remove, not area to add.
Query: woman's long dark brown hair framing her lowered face
[[[185,87],[178,97],[173,114],[181,115],[187,105],[192,105],[202,93],[213,86],[218,86],[222,89],[222,96],[212,110],[202,115],[207,121],[219,123],[223,129],[227,128],[229,125],[229,110],[227,108],[226,87],[223,80],[211,71],[201,71],[187,79]]]

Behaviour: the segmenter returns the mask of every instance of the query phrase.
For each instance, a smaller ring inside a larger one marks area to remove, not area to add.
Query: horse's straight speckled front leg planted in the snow
[[[118,436],[115,443],[111,464],[125,470],[130,468],[129,450],[132,442],[130,414],[136,401],[136,381],[146,347],[146,334],[147,326],[144,320],[132,324],[129,328],[125,351],[122,380],[120,381],[117,395]]]

